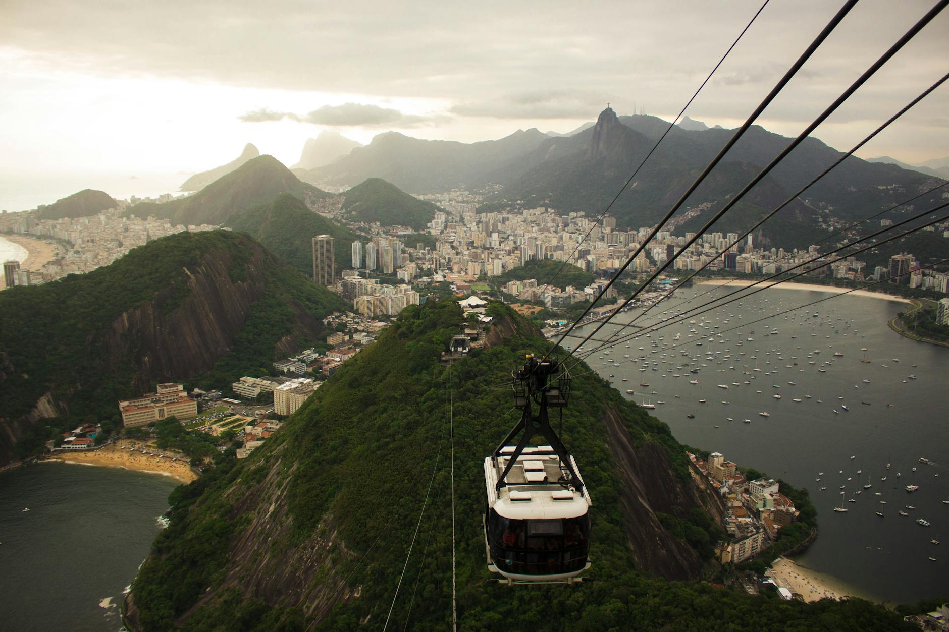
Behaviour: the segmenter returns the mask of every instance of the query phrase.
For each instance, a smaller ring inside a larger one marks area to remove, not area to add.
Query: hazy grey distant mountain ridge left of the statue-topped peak
[[[451,191],[527,154],[547,138],[533,128],[518,130],[503,139],[473,143],[413,139],[386,132],[332,164],[309,170],[303,179],[315,184],[354,186],[367,178],[381,177],[412,194]]]

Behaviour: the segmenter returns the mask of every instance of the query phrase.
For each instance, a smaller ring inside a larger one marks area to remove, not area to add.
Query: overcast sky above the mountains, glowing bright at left
[[[670,119],[760,4],[0,0],[0,194],[201,171],[246,142],[292,164],[327,128],[470,142],[568,131],[606,102]],[[772,0],[687,114],[739,124],[841,4]],[[796,135],[933,4],[862,0],[761,123]],[[947,71],[949,11],[815,136],[846,150]],[[947,95],[861,155],[949,155]]]

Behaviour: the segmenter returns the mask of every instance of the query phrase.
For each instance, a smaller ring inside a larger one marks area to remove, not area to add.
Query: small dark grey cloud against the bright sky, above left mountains
[[[326,127],[419,127],[437,125],[444,121],[442,116],[419,116],[405,114],[392,107],[380,107],[370,103],[343,103],[342,105],[324,105],[308,114],[278,112],[261,107],[237,117],[244,122],[289,121],[307,122]]]

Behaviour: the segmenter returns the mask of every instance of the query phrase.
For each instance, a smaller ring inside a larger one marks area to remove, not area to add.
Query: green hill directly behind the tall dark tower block
[[[234,231],[250,233],[279,259],[307,276],[313,270],[314,235],[335,237],[333,248],[337,270],[352,267],[350,247],[360,238],[344,226],[313,213],[306,204],[289,194],[280,194],[270,204],[233,216],[226,226]]]

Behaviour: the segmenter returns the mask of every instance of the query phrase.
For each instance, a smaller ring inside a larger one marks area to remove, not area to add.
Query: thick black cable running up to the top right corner
[[[822,113],[820,114],[820,116],[818,116],[816,119],[814,119],[814,121],[812,121],[812,122],[807,126],[807,128],[805,128],[804,131],[802,131],[802,132],[797,136],[796,139],[793,139],[793,140],[791,141],[791,143],[790,143],[780,154],[778,154],[775,158],[773,158],[772,161],[768,164],[767,167],[765,167],[764,169],[762,169],[762,170],[758,173],[757,176],[755,176],[754,178],[752,178],[752,181],[751,181],[751,182],[749,182],[748,184],[746,184],[746,185],[744,186],[744,188],[743,188],[740,192],[738,192],[737,195],[735,195],[732,199],[730,199],[730,200],[728,201],[728,203],[725,204],[725,206],[723,206],[723,207],[721,208],[721,210],[719,210],[715,215],[713,215],[713,216],[705,223],[705,225],[704,225],[701,229],[699,229],[698,232],[696,232],[696,234],[695,234],[691,239],[687,240],[687,241],[685,242],[685,245],[683,245],[683,246],[681,247],[681,249],[679,249],[679,251],[676,252],[675,256],[673,256],[672,258],[668,259],[664,264],[662,264],[659,268],[657,268],[656,271],[654,271],[654,272],[649,276],[649,278],[646,279],[645,283],[643,283],[639,288],[637,288],[635,291],[633,291],[633,293],[630,294],[629,297],[628,297],[625,301],[623,301],[623,304],[622,304],[620,307],[617,307],[615,310],[613,310],[613,311],[612,311],[612,314],[611,314],[611,317],[614,316],[614,315],[616,315],[616,314],[618,314],[618,313],[620,312],[620,310],[623,309],[623,307],[626,307],[627,305],[629,305],[629,303],[630,303],[634,298],[636,298],[636,297],[640,294],[640,292],[642,292],[643,289],[647,288],[647,287],[649,286],[649,284],[651,284],[654,280],[656,280],[656,278],[661,274],[661,272],[662,272],[663,270],[665,270],[666,268],[668,268],[669,266],[671,266],[671,265],[673,264],[673,262],[674,262],[676,259],[678,259],[679,256],[680,256],[684,251],[686,251],[690,246],[692,246],[692,244],[694,244],[694,243],[698,240],[698,238],[702,235],[702,233],[708,231],[708,229],[711,228],[712,225],[715,224],[716,221],[718,221],[718,219],[720,219],[724,214],[728,213],[728,211],[731,210],[731,209],[735,206],[735,204],[738,202],[738,200],[740,200],[744,195],[746,195],[749,191],[751,191],[752,188],[754,188],[754,185],[756,185],[762,178],[764,178],[765,176],[767,176],[767,175],[772,171],[772,169],[773,169],[775,166],[777,166],[778,163],[781,162],[781,160],[783,160],[784,158],[786,158],[786,157],[791,153],[791,151],[793,151],[793,149],[794,149],[795,147],[797,147],[801,142],[803,142],[805,139],[807,139],[808,136],[809,136],[809,134],[810,134],[812,131],[814,131],[814,129],[816,129],[818,125],[820,125],[823,121],[827,120],[827,118],[828,118],[838,107],[840,107],[844,102],[846,102],[847,99],[848,99],[854,92],[856,92],[857,89],[860,88],[861,85],[865,84],[866,81],[868,81],[868,80],[870,79],[870,77],[872,77],[874,74],[876,74],[876,72],[877,72],[887,61],[889,61],[897,52],[899,52],[900,49],[901,49],[903,46],[905,46],[906,44],[908,44],[908,43],[910,42],[910,40],[912,40],[912,39],[921,31],[922,28],[924,28],[927,24],[929,24],[929,22],[931,22],[931,21],[933,20],[933,18],[935,18],[937,15],[939,15],[940,11],[941,11],[942,9],[945,9],[946,5],[949,5],[949,0],[940,0],[940,2],[938,2],[938,3],[936,4],[936,6],[933,7],[932,9],[929,9],[929,10],[920,18],[920,20],[917,21],[916,24],[914,24],[911,28],[909,28],[909,30],[907,30],[905,33],[903,33],[902,37],[901,37],[899,40],[897,40],[897,42],[896,42],[893,46],[890,46],[890,47],[886,50],[886,52],[884,52],[884,54],[881,55],[880,58],[879,58],[876,62],[874,62],[872,65],[870,65],[870,67],[868,67],[868,68],[864,71],[864,73],[863,73],[860,77],[858,77],[858,78],[856,79],[856,81],[854,81],[852,84],[850,84],[850,85],[847,87],[847,89],[844,90],[844,92],[843,92],[839,97],[837,97],[836,100],[834,100],[834,102],[830,103],[830,105],[828,105],[827,109],[825,109],[824,112],[822,112]],[[650,235],[650,239],[651,239],[651,238],[652,238],[652,235]],[[642,248],[643,248],[644,246],[645,246],[645,244],[643,244],[643,246],[641,247],[640,250],[642,250]],[[638,253],[639,253],[639,252],[637,251],[636,254],[638,254]],[[634,256],[635,256],[635,255],[634,255]],[[629,262],[626,263],[626,266],[628,266],[628,265],[629,265]],[[625,266],[623,267],[623,269],[624,269],[624,268],[625,268]],[[616,277],[614,277],[614,280],[615,280],[615,278],[616,278]],[[611,282],[611,283],[612,283],[612,282]],[[607,287],[608,287],[608,286],[607,286]],[[601,294],[601,295],[602,295],[602,294]],[[599,298],[599,297],[598,297],[598,298]],[[590,307],[592,307],[592,303],[590,304]],[[588,309],[589,309],[589,307],[587,307],[587,310],[588,310]],[[586,312],[585,312],[585,313],[586,313]],[[606,325],[606,323],[608,323],[608,322],[609,322],[609,319],[606,319],[606,320],[603,321],[600,325],[597,325],[597,327],[596,327],[595,329],[593,329],[593,331],[589,334],[589,336],[587,336],[587,339],[589,339],[591,336],[595,335],[595,334],[596,334],[601,328],[603,328],[603,327]],[[572,327],[571,327],[571,328],[572,328]],[[566,336],[566,334],[565,334],[565,336]],[[563,340],[563,339],[561,339],[561,340]],[[585,342],[586,342],[586,341],[585,341]],[[559,344],[559,343],[558,343],[558,344]],[[572,351],[571,351],[570,353],[568,353],[568,357],[569,357],[571,354],[572,354]]]

